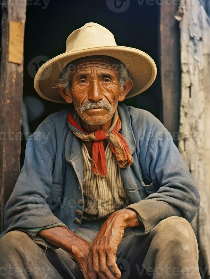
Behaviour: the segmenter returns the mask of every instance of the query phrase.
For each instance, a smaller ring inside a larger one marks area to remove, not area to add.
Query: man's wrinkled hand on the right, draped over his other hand
[[[99,278],[116,279],[121,272],[116,264],[116,252],[125,228],[141,225],[137,212],[125,208],[110,215],[91,244],[88,255],[88,270],[95,271]]]

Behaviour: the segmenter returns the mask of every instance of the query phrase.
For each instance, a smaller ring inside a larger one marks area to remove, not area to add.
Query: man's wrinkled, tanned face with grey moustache
[[[132,87],[132,81],[130,83]],[[113,61],[89,57],[75,64],[70,95],[63,97],[67,102],[73,102],[80,118],[87,124],[102,125],[112,118],[118,101],[124,100],[130,88],[121,89],[119,69]]]

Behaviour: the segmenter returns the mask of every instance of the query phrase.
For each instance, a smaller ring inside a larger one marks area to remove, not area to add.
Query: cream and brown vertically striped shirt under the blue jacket
[[[92,159],[83,143],[83,196],[85,208],[83,218],[94,220],[110,215],[125,206],[128,196],[123,187],[120,167],[116,164],[112,150],[105,150],[108,174],[102,178],[92,171]]]

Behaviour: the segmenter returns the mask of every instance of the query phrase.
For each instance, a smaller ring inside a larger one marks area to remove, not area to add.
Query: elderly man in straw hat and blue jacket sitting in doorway
[[[39,95],[75,109],[27,141],[5,206],[2,277],[200,278],[195,182],[160,121],[118,105],[155,76],[151,57],[92,22],[40,67]]]

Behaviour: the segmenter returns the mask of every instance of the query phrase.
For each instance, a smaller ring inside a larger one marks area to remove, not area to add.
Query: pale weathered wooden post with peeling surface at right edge
[[[210,276],[210,20],[199,0],[181,0],[181,104],[179,151],[201,196],[192,227],[199,245],[199,262]]]

